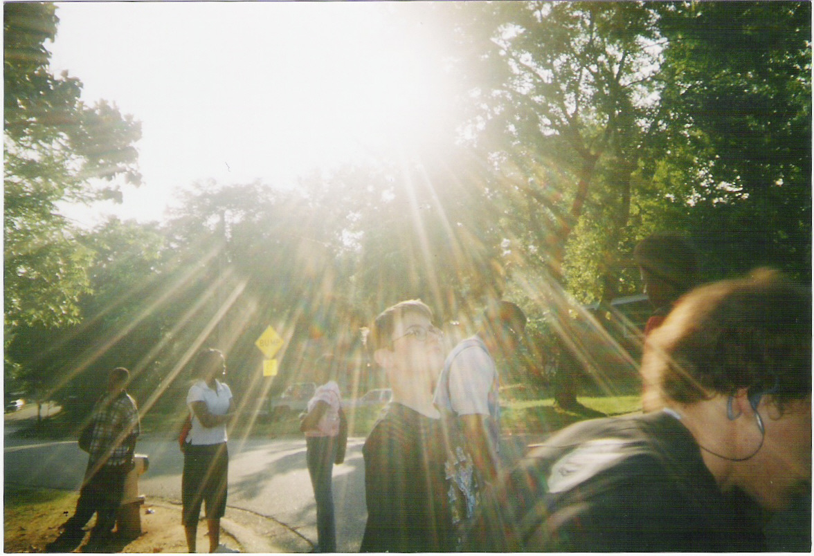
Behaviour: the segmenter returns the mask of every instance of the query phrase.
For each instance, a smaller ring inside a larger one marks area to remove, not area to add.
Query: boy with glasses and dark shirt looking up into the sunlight
[[[393,391],[387,413],[365,441],[367,524],[361,552],[453,550],[444,482],[444,435],[432,392],[444,364],[430,308],[400,302],[379,315],[368,336]]]

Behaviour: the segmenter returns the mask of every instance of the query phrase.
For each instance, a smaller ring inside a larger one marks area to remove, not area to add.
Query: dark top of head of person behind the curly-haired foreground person
[[[646,237],[633,250],[633,259],[656,280],[671,284],[679,295],[700,281],[698,250],[677,233],[659,232]]]

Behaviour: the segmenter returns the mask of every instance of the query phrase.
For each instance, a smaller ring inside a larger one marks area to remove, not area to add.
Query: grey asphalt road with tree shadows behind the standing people
[[[44,413],[44,412],[43,412]],[[19,419],[31,418],[31,407],[4,419],[3,471],[6,484],[51,489],[78,489],[87,454],[76,441],[32,441],[9,437]],[[501,451],[507,460],[536,438],[504,438]],[[337,549],[357,552],[365,529],[364,438],[348,439],[345,462],[334,467],[334,505]],[[139,479],[139,493],[168,501],[181,501],[183,456],[177,441],[164,435],[142,435],[138,454],[149,456],[147,472]],[[305,463],[304,438],[231,439],[229,441],[228,505],[249,510],[298,532],[317,543],[317,515],[313,489]],[[228,512],[228,510],[227,510]]]

